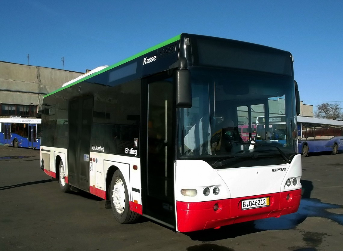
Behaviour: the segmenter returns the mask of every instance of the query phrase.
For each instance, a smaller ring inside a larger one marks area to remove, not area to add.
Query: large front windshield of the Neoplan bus
[[[191,76],[192,107],[180,109],[178,119],[179,157],[280,155],[276,147],[288,158],[295,155],[293,77],[200,67],[192,68]],[[284,123],[256,126],[257,117],[275,115],[282,115]],[[283,141],[268,138],[253,145],[261,126],[271,126]]]

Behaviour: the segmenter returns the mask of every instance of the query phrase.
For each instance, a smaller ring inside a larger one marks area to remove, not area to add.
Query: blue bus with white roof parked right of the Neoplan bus
[[[309,153],[343,150],[343,121],[297,116],[298,151]]]

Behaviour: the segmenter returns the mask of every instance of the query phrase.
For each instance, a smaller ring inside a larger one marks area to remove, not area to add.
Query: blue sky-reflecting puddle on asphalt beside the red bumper
[[[280,218],[255,220],[254,225],[259,230],[293,229],[307,217],[323,217],[343,225],[343,214],[330,211],[336,208],[343,207],[341,205],[323,203],[318,199],[301,199],[298,212],[283,215]]]

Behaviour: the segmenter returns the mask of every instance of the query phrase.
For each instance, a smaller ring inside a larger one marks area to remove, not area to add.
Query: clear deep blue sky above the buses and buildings
[[[3,0],[0,61],[84,72],[180,33],[290,51],[300,99],[343,107],[343,1]]]

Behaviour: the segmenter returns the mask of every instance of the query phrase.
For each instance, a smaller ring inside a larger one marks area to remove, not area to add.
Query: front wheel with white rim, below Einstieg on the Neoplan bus
[[[117,192],[114,195],[115,186]],[[116,204],[114,203],[114,201],[118,202],[120,200],[115,198],[118,194],[123,195],[123,193],[125,193],[125,201],[122,201],[122,203],[119,203],[119,205],[117,203],[118,208],[116,208]],[[120,224],[130,224],[137,221],[140,215],[130,210],[129,193],[127,190],[126,182],[120,170],[116,170],[113,174],[112,181],[109,186],[108,199],[111,202],[112,213],[117,222],[119,222]]]

